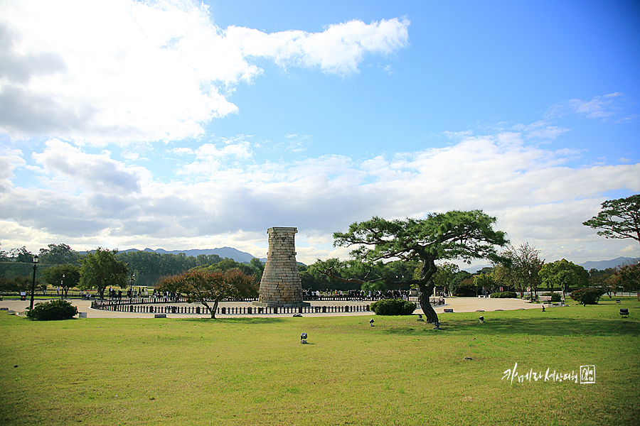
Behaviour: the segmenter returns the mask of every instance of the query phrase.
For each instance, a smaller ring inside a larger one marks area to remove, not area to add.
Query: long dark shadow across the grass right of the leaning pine
[[[426,327],[393,327],[382,329],[388,334],[422,334],[426,332],[442,334],[529,334],[535,336],[614,336],[616,334],[640,335],[640,322],[629,320],[592,320],[584,318],[491,318],[484,324],[478,320],[447,320],[440,322],[442,330],[432,330],[432,324]]]

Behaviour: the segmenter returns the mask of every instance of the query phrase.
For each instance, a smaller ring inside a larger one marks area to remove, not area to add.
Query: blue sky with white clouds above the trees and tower
[[[0,1],[1,249],[346,257],[373,215],[484,209],[547,261],[640,192],[633,1]],[[484,263],[484,261],[479,261]]]

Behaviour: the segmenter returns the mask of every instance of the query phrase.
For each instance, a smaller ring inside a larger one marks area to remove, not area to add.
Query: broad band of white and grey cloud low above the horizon
[[[32,228],[38,231],[28,236],[42,246],[230,245],[262,256],[267,228],[297,226],[307,244],[299,260],[311,263],[341,254],[331,249],[332,232],[374,214],[423,217],[481,208],[498,217],[511,239],[535,242],[548,260],[585,261],[628,245],[605,242],[582,226],[599,211],[603,194],[640,192],[640,164],[569,168],[567,159],[577,153],[531,146],[520,133],[467,136],[445,148],[358,161],[326,155],[257,164],[245,138],[185,153],[194,159],[175,173],[198,179],[161,182],[107,152],[49,141],[33,156],[43,187],[7,185],[0,193],[0,239],[21,246]],[[15,170],[23,167],[21,153],[9,156]]]

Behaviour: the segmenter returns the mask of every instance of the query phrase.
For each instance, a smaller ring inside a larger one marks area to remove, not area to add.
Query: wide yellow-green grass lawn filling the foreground
[[[444,314],[441,331],[416,316],[0,315],[0,425],[639,425],[634,299]],[[531,369],[543,377],[519,383]]]

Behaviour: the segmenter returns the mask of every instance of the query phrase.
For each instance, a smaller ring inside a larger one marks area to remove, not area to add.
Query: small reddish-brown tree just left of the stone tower
[[[180,275],[163,278],[160,280],[158,290],[183,293],[189,303],[202,303],[211,313],[211,318],[215,319],[220,301],[255,297],[258,285],[253,275],[247,275],[238,269],[223,272],[197,268]],[[209,306],[209,302],[213,302],[213,306]]]

